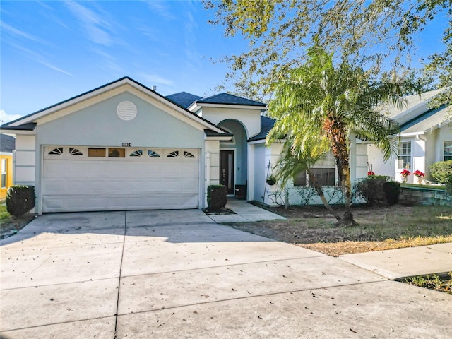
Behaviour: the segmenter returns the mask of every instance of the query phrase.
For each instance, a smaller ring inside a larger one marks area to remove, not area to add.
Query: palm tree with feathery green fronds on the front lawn
[[[335,157],[343,189],[345,211],[340,224],[355,225],[351,210],[350,136],[355,133],[372,141],[386,159],[396,151],[399,126],[375,108],[385,102],[402,105],[400,85],[369,83],[369,73],[346,61],[335,67],[333,54],[319,47],[312,47],[307,55],[305,64],[290,69],[275,83],[268,114],[276,123],[268,133],[267,143],[287,136],[295,155],[303,154],[312,136],[326,143]]]

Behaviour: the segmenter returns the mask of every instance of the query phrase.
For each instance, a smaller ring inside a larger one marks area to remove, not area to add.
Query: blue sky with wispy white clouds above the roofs
[[[0,11],[2,122],[123,76],[162,95],[212,95],[227,65],[211,59],[247,47],[208,24],[201,1],[2,0]],[[416,37],[420,56],[439,49],[441,25]]]

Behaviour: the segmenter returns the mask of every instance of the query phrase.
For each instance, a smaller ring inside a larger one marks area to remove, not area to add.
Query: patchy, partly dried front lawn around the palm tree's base
[[[287,220],[231,224],[232,227],[314,249],[331,256],[452,242],[450,206],[354,208],[357,226],[337,227],[324,208],[271,208]]]

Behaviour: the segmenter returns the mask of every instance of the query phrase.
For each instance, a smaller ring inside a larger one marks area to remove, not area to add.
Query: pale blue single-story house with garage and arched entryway
[[[1,129],[16,134],[15,184],[35,186],[37,213],[205,208],[210,184],[272,204],[282,143],[266,147],[265,110],[227,93],[163,97],[124,77]],[[366,150],[352,138],[353,180],[367,174]],[[337,184],[332,163],[318,170]]]

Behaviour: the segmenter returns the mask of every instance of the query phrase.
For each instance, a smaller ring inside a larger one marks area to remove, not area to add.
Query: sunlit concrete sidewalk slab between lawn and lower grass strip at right
[[[452,271],[452,242],[339,256],[391,280]]]

